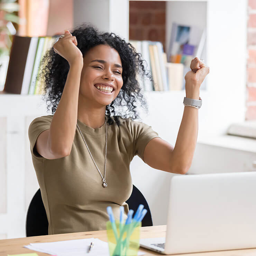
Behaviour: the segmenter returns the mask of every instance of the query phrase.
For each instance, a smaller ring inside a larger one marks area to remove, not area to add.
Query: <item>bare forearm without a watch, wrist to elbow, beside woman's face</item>
[[[61,100],[54,113],[49,131],[48,145],[52,152],[67,155],[71,151],[77,122],[82,67],[79,61],[70,66]]]

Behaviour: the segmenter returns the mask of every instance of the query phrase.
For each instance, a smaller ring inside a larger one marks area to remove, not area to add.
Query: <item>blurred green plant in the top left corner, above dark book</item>
[[[9,55],[12,35],[16,34],[13,23],[19,24],[19,17],[14,13],[19,10],[17,0],[0,0],[0,57]]]

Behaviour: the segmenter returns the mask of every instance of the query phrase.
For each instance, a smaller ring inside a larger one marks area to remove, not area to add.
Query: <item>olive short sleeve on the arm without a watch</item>
[[[35,144],[38,136],[45,130],[50,129],[52,122],[52,116],[42,116],[35,118],[28,128],[28,138],[30,144],[30,152],[32,157],[36,159],[42,159],[43,156],[39,155],[35,150]]]

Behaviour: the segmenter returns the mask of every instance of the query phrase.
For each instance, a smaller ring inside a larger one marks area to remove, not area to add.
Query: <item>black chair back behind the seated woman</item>
[[[143,204],[147,213],[141,222],[142,227],[153,226],[151,213],[148,203],[143,194],[133,185],[130,198],[126,201],[129,209],[136,211],[139,204]],[[44,208],[40,189],[37,190],[32,198],[26,218],[26,236],[44,236],[48,235],[48,220]]]

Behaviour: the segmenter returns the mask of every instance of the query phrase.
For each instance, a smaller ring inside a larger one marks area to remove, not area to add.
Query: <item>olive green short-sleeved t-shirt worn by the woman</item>
[[[130,162],[135,155],[143,159],[147,143],[159,136],[151,126],[131,119],[119,118],[120,126],[107,124],[108,186],[103,188],[101,176],[77,127],[70,155],[46,159],[37,153],[36,140],[41,132],[50,128],[52,118],[53,115],[38,117],[28,129],[32,161],[49,222],[48,233],[104,230],[108,206],[112,207],[115,219],[119,219],[120,205],[125,207],[127,215],[125,201],[132,192]],[[93,129],[79,120],[77,124],[104,176],[105,125]]]

